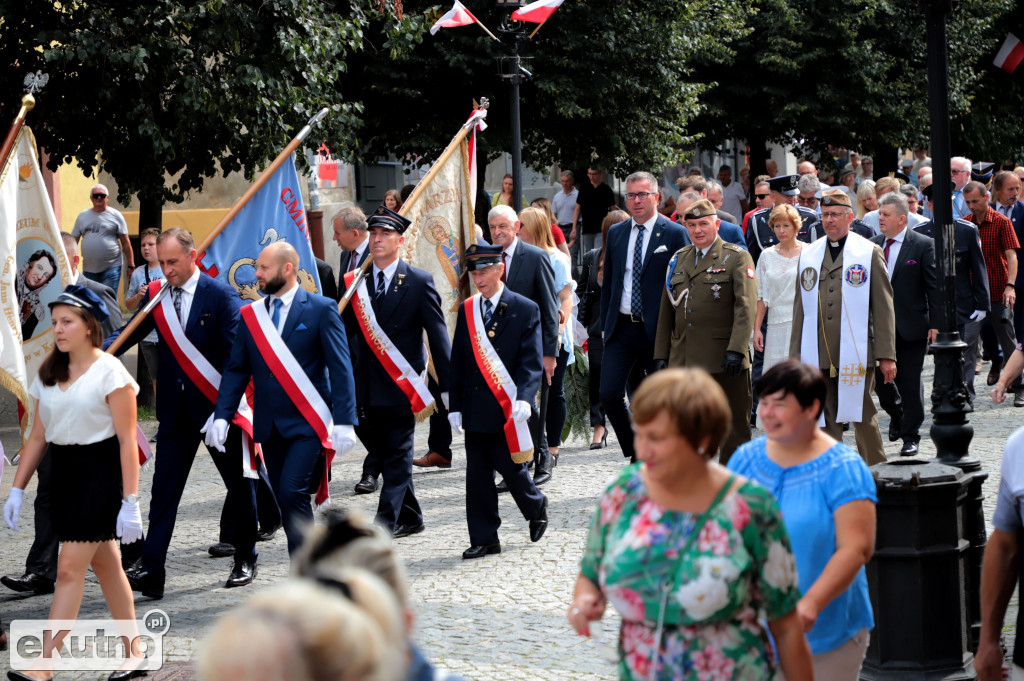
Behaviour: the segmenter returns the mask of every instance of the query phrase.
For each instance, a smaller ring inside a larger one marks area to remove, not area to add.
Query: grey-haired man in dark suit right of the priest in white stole
[[[879,201],[881,235],[871,241],[882,248],[893,287],[896,314],[896,379],[886,383],[874,369],[874,393],[889,414],[889,439],[903,440],[900,455],[918,454],[925,422],[922,371],[928,344],[938,335],[939,301],[935,280],[935,244],[907,228],[906,197],[890,191]]]

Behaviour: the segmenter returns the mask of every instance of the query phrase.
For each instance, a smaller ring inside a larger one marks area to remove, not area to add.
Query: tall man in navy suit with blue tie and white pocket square
[[[626,382],[639,363],[654,370],[654,335],[662,288],[669,260],[690,244],[681,225],[657,213],[662,200],[657,178],[647,172],[626,178],[626,206],[631,219],[608,228],[601,287],[604,357],[601,403],[623,456],[633,460],[633,422],[626,407]]]

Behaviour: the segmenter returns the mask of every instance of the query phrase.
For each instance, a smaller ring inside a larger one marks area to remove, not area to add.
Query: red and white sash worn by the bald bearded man
[[[331,415],[331,408],[324,401],[319,391],[306,376],[302,365],[285,344],[285,339],[270,321],[270,314],[266,311],[266,303],[263,300],[243,305],[242,321],[246,323],[270,373],[278,379],[281,387],[285,389],[285,394],[319,438],[324,454],[324,472],[316,490],[316,507],[319,508],[331,501],[328,488],[328,473],[334,461],[334,444],[331,442],[334,417]]]

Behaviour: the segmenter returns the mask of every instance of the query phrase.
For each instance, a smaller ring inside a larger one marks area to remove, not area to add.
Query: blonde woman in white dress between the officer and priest
[[[764,352],[764,371],[790,356],[793,304],[797,298],[797,268],[802,244],[800,213],[793,206],[776,206],[768,216],[768,226],[778,244],[766,249],[758,259],[758,312],[754,320],[754,347]],[[768,333],[761,334],[765,313]]]

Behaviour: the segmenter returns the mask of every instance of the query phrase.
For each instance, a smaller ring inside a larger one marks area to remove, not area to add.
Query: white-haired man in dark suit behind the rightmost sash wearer
[[[548,387],[555,373],[555,357],[558,356],[558,294],[555,293],[555,269],[547,253],[524,244],[516,236],[519,233],[519,217],[509,206],[496,206],[487,213],[490,239],[495,246],[502,247],[502,261],[505,265],[502,282],[515,293],[532,300],[541,308],[541,341],[544,347],[544,379],[541,381],[541,406],[532,410],[529,417],[529,432],[534,436],[537,467],[534,481],[544,484],[551,479],[551,453],[544,433],[547,419]],[[525,399],[532,403],[532,399]],[[504,488],[500,490],[505,492]]]

